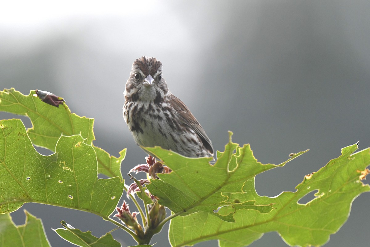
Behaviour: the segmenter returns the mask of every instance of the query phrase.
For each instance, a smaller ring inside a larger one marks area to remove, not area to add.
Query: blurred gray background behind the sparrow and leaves
[[[40,89],[64,97],[72,112],[95,119],[96,146],[114,156],[127,148],[123,174],[145,157],[122,117],[131,64],[143,55],[163,63],[170,90],[191,109],[216,150],[228,142],[228,130],[234,142],[250,143],[262,163],[278,164],[289,153],[310,149],[257,176],[260,195],[295,191],[342,147],[357,141],[360,150],[370,146],[370,1],[1,5],[1,90]],[[326,246],[369,246],[369,205],[370,194],[356,198],[349,220]],[[115,227],[76,210],[33,203],[22,208],[43,220],[54,247],[73,246],[51,230],[61,220],[98,237]],[[11,215],[24,223],[23,210]],[[135,244],[123,231],[113,235],[122,246]],[[152,243],[169,246],[166,235],[165,229]],[[286,244],[267,233],[251,246]]]

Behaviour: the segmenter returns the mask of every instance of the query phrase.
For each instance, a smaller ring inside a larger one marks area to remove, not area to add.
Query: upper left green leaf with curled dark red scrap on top
[[[14,88],[0,91],[0,111],[29,117],[33,127],[27,129],[27,134],[34,145],[55,151],[55,145],[62,134],[64,136],[79,134],[84,138],[84,143],[92,144],[95,140],[94,119],[71,113],[65,102],[55,107],[33,94],[34,90],[25,96]],[[99,147],[93,147],[98,158],[98,173],[108,177],[117,176],[122,180],[121,162],[125,158],[126,150],[122,150],[120,157],[116,158]]]

